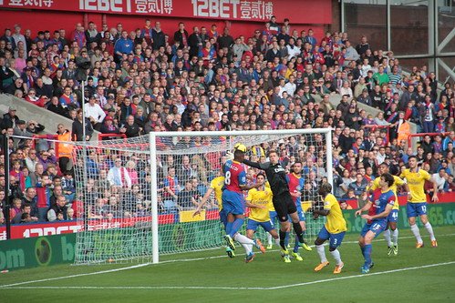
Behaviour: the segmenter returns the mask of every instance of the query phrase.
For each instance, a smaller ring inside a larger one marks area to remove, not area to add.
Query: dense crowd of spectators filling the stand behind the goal
[[[175,32],[160,22],[127,31],[77,24],[32,35],[20,25],[0,37],[0,93],[72,119],[47,129],[58,140],[84,140],[94,130],[135,137],[160,131],[259,130],[332,127],[335,195],[365,203],[368,183],[377,166],[391,172],[416,155],[421,167],[439,182],[439,190],[455,188],[455,87],[438,92],[427,66],[404,74],[392,52],[372,49],[366,36],[313,30],[297,31],[289,20],[275,17],[251,36],[233,37],[230,28],[180,23]],[[352,38],[352,40],[350,40]],[[81,90],[81,80],[85,89]],[[333,106],[330,97],[340,96]],[[358,103],[376,107],[373,116]],[[150,169],[144,155],[99,155],[88,152],[87,182],[78,191],[71,145],[56,149],[26,137],[44,130],[39,116],[28,121],[10,106],[1,117],[9,138],[10,167],[0,157],[0,201],[5,206],[5,174],[12,189],[13,223],[150,214]],[[424,136],[414,153],[408,146],[409,124]],[[447,133],[447,134],[446,134]],[[106,137],[111,138],[110,136]],[[3,140],[3,137],[2,137]],[[254,146],[251,158],[265,160],[277,149],[280,161],[304,166],[307,198],[326,178],[322,136],[295,136],[272,145]],[[175,148],[210,145],[182,137]],[[3,146],[3,145],[2,145]],[[197,206],[222,155],[169,156],[159,160],[160,211]],[[251,181],[255,171],[250,171]],[[78,183],[80,186],[80,183]],[[429,188],[430,189],[430,188]],[[305,197],[305,196],[304,196]],[[82,202],[83,201],[83,202]],[[212,207],[216,207],[214,204]],[[121,213],[121,215],[120,215]],[[4,222],[3,211],[0,223]]]

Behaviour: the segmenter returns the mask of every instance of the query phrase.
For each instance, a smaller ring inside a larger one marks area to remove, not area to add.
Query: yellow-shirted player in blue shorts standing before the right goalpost
[[[341,255],[337,247],[341,245],[346,233],[346,221],[341,212],[341,207],[336,201],[336,197],[331,194],[332,186],[329,183],[323,183],[319,187],[319,195],[324,199],[323,209],[313,209],[313,217],[316,219],[319,216],[326,216],[326,223],[321,228],[315,240],[315,247],[321,263],[315,267],[315,271],[320,271],[326,268],[329,264],[326,258],[326,251],[324,250],[324,242],[329,240],[328,250],[333,258],[336,260],[336,267],[334,274],[341,273],[341,269],[345,266],[341,260]]]

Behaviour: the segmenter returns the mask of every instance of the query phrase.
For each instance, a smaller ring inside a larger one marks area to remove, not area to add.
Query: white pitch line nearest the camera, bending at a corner
[[[326,278],[321,280],[303,282],[303,283],[296,283],[296,284],[289,284],[289,285],[282,285],[277,287],[271,288],[260,288],[260,287],[206,287],[206,286],[132,286],[132,287],[125,287],[125,286],[106,286],[106,287],[98,287],[98,286],[4,286],[4,289],[120,289],[120,290],[128,290],[128,289],[145,289],[145,290],[157,290],[157,289],[215,289],[215,290],[275,290],[275,289],[282,289],[282,288],[295,288],[295,287],[303,287],[307,285],[319,284],[319,283],[326,283],[326,282],[333,282],[337,280],[344,280],[350,278],[366,278],[384,274],[391,274],[401,271],[408,271],[408,270],[416,270],[416,269],[423,269],[423,268],[435,268],[439,266],[446,266],[455,264],[455,261],[450,262],[443,262],[443,263],[435,263],[435,264],[428,264],[422,265],[419,267],[413,268],[398,268],[398,269],[391,269],[391,270],[384,270],[373,272],[369,274],[358,274],[353,276],[347,277],[336,277],[336,278]],[[17,285],[17,284],[16,284]]]

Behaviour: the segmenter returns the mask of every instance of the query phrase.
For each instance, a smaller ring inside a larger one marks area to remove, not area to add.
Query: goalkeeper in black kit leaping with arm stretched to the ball
[[[295,234],[298,237],[298,242],[302,246],[305,243],[304,233],[302,227],[300,226],[297,208],[295,203],[289,193],[289,185],[286,180],[286,173],[284,167],[281,166],[279,162],[279,157],[276,151],[269,152],[270,162],[258,163],[253,162],[243,158],[243,163],[249,167],[259,168],[265,171],[265,176],[270,184],[270,189],[274,194],[272,199],[274,203],[274,209],[280,222],[280,247],[283,258],[289,256],[286,246],[284,245],[284,240],[286,237],[286,231],[289,229],[289,222],[287,216],[291,216],[293,221],[293,227]]]

